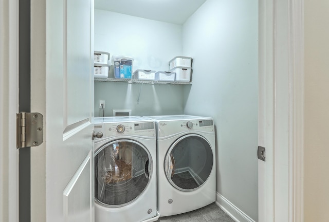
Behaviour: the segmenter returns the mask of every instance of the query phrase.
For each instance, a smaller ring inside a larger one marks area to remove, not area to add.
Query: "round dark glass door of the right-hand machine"
[[[177,139],[165,158],[168,181],[178,190],[191,191],[202,186],[213,167],[213,152],[209,142],[197,134]]]

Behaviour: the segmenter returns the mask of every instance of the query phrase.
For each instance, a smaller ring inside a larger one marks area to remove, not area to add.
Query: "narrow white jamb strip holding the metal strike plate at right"
[[[274,222],[274,1],[259,0],[258,8],[258,145],[266,149],[266,162],[258,160],[258,221]]]

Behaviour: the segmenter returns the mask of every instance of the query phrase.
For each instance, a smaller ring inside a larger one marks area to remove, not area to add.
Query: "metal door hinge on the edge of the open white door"
[[[17,148],[38,146],[43,142],[43,116],[21,112],[16,115]]]

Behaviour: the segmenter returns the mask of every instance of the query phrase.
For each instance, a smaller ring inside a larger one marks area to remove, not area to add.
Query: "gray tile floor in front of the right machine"
[[[160,217],[156,222],[234,222],[220,207],[212,203],[188,213]]]

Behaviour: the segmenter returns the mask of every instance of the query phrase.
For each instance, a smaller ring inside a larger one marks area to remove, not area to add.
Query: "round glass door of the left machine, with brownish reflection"
[[[152,175],[148,150],[134,140],[109,142],[95,153],[95,198],[102,205],[121,206],[138,198]]]

